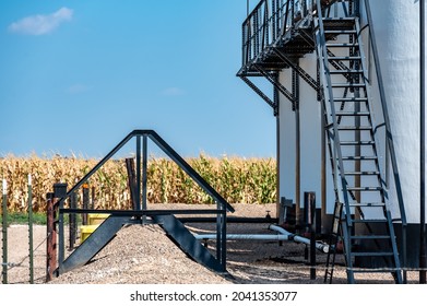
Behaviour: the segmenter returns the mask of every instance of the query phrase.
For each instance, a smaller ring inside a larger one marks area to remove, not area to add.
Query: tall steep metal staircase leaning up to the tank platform
[[[341,236],[348,283],[355,283],[355,273],[372,272],[390,272],[396,283],[402,283],[380,170],[378,126],[372,117],[359,21],[356,16],[322,16],[320,0],[317,8],[315,35],[336,195],[334,211],[340,211],[340,226],[335,222],[332,231],[335,247],[328,256],[324,280],[332,282]]]

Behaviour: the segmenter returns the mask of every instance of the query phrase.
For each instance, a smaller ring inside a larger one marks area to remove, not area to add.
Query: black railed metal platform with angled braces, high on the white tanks
[[[300,4],[300,8],[298,7]],[[278,103],[266,96],[249,76],[263,76],[283,94],[295,108],[296,97],[278,81],[283,68],[293,68],[315,91],[317,82],[304,69],[295,66],[296,59],[315,50],[310,39],[303,35],[310,26],[313,0],[261,0],[242,23],[242,66],[239,76],[278,115]],[[301,34],[301,35],[299,35]],[[292,48],[292,54],[285,52]],[[274,95],[274,93],[273,93]]]

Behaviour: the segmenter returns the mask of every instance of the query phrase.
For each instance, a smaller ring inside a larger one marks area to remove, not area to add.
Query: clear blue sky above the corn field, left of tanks
[[[252,1],[254,2],[254,1]],[[102,157],[133,129],[182,156],[275,156],[236,72],[245,0],[0,2],[0,155]]]

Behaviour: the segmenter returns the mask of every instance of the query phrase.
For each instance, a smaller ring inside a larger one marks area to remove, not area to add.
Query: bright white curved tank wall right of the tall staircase
[[[370,1],[408,223],[419,222],[419,5]],[[363,10],[364,11],[364,10]],[[372,83],[376,85],[376,82]],[[391,189],[394,188],[390,180]],[[396,199],[391,193],[391,202]],[[396,208],[394,208],[394,211]]]

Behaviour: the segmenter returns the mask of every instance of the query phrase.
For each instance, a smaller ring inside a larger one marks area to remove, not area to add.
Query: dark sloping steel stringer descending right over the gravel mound
[[[154,215],[153,220],[162,226],[169,239],[195,262],[203,264],[215,272],[225,272],[220,260],[217,260],[174,215]]]

